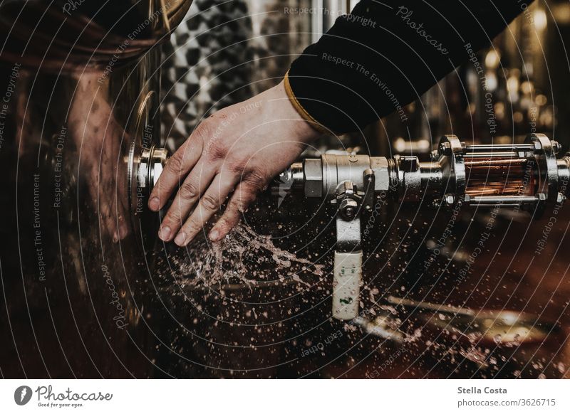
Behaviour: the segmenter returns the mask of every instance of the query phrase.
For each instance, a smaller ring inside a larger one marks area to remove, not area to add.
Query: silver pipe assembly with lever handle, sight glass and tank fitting
[[[431,161],[324,154],[292,164],[271,191],[280,199],[298,193],[336,206],[333,317],[353,319],[358,316],[362,275],[361,216],[372,211],[376,194],[429,205],[527,208],[537,217],[546,204],[562,203],[570,193],[570,154],[556,159],[559,150],[544,134],[507,145],[466,145],[455,135],[445,135]],[[165,149],[131,148],[128,178],[135,213],[142,210],[167,158]]]

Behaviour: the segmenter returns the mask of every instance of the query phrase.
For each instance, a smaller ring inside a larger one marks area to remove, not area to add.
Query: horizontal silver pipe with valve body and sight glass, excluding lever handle
[[[542,208],[570,195],[565,184],[570,154],[556,159],[559,150],[559,143],[544,134],[529,134],[524,144],[497,145],[467,145],[455,135],[445,135],[432,161],[411,155],[387,159],[325,154],[305,159],[303,174],[285,176],[292,180],[291,191],[304,189],[309,198],[335,198],[346,183],[363,191],[370,170],[368,180],[375,193],[390,193],[400,201]],[[364,210],[370,209],[365,205]]]

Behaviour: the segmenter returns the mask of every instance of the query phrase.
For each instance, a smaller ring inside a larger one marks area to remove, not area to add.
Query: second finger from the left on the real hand
[[[158,237],[164,241],[172,240],[177,235],[182,223],[186,220],[192,208],[208,188],[216,175],[214,166],[199,161],[180,186],[178,193],[162,219]]]

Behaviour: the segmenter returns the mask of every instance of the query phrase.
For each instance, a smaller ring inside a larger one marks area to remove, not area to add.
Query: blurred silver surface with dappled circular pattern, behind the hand
[[[195,0],[162,48],[162,136],[179,146],[212,112],[251,97],[243,0]]]

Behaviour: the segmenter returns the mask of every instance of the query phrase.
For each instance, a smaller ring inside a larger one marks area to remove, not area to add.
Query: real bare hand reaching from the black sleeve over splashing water
[[[158,211],[180,184],[159,237],[187,245],[233,191],[209,232],[210,240],[221,240],[257,193],[318,135],[291,104],[283,82],[216,112],[170,157],[150,194],[149,208]]]

